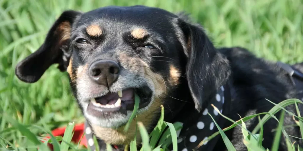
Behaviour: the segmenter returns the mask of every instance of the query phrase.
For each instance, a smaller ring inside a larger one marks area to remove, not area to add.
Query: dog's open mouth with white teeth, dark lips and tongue
[[[102,113],[121,112],[134,110],[135,93],[139,96],[139,109],[146,107],[151,101],[151,89],[148,86],[141,88],[127,88],[115,93],[109,92],[107,95],[98,98],[91,98],[87,111],[89,114],[98,116]]]

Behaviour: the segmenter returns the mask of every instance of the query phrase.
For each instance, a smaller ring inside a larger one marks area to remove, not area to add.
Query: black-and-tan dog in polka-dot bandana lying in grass
[[[303,63],[269,62],[241,47],[215,48],[202,26],[187,14],[160,8],[108,6],[86,13],[64,11],[42,46],[18,63],[15,74],[33,83],[52,64],[67,71],[87,121],[86,133],[98,138],[101,150],[106,150],[105,143],[123,150],[135,137],[135,121],[151,132],[161,105],[165,121],[182,124],[178,150],[227,150],[220,136],[208,140],[218,131],[214,121],[221,128],[232,124],[218,111],[239,120],[239,115],[269,111],[274,105],[266,99],[277,104],[289,98],[303,100]],[[139,109],[124,132],[136,96]],[[299,108],[303,111],[301,104]],[[294,105],[286,109],[296,113]],[[257,124],[257,117],[246,122],[250,131]],[[293,117],[286,114],[284,125],[294,124]],[[274,119],[264,124],[265,149],[271,148],[272,130],[277,126]],[[295,138],[300,137],[299,127],[285,130],[294,136],[291,142],[302,145]],[[225,133],[236,150],[247,150],[241,127]],[[136,139],[140,147],[139,133]],[[92,140],[88,144],[94,147]],[[279,150],[286,148],[282,136]]]

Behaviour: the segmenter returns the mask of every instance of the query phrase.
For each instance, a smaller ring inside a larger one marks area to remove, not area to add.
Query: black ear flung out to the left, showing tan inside
[[[66,71],[71,55],[69,42],[72,24],[80,14],[77,11],[64,11],[61,14],[48,32],[42,46],[17,64],[15,74],[20,80],[36,82],[54,63],[59,63],[58,68]]]

